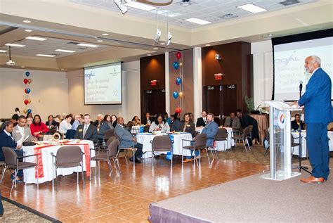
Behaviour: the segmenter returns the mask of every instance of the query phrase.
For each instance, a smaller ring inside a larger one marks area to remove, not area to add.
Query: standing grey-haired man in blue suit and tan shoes
[[[304,67],[312,74],[306,84],[306,92],[298,102],[304,106],[306,122],[306,146],[312,166],[312,175],[302,178],[303,182],[321,184],[329,175],[329,146],[327,125],[332,121],[331,91],[332,82],[329,75],[320,68],[318,56],[308,56]]]

